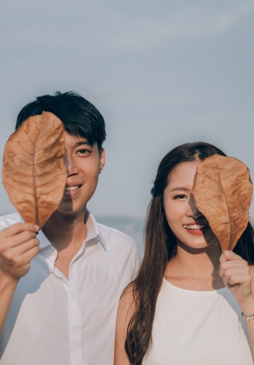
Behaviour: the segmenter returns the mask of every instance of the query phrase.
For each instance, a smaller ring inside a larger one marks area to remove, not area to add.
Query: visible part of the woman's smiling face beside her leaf
[[[195,249],[218,243],[191,194],[199,163],[200,161],[179,163],[172,171],[163,195],[167,222],[176,237],[177,245]]]

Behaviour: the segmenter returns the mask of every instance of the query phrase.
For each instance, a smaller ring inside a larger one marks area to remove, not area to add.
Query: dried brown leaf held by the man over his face
[[[6,142],[3,183],[25,222],[44,226],[66,185],[63,124],[51,112],[25,120]]]

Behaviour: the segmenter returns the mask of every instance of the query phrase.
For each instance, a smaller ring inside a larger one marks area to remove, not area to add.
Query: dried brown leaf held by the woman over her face
[[[246,229],[252,191],[248,167],[236,158],[213,155],[198,165],[193,196],[222,252],[233,250]]]

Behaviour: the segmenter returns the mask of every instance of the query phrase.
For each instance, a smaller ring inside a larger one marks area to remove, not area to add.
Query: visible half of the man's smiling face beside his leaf
[[[64,135],[68,177],[63,199],[56,212],[83,213],[97,187],[99,173],[104,167],[105,153],[104,149],[99,152],[97,144],[90,146],[83,137],[73,137],[66,132]]]

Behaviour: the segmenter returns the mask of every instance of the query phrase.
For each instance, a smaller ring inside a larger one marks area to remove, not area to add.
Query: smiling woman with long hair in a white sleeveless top
[[[215,153],[225,156],[182,144],[159,164],[143,263],[119,303],[115,365],[253,364],[253,228],[222,253],[191,195],[198,163]]]

